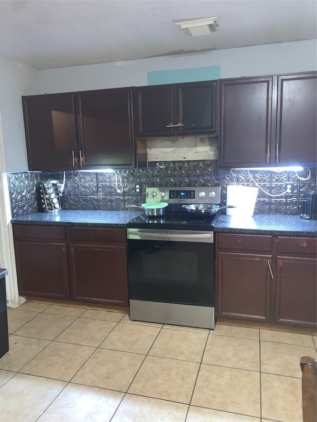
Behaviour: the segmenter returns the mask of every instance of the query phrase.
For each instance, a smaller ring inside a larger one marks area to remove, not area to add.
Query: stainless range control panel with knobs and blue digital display
[[[148,187],[146,202],[167,202],[168,204],[220,204],[220,187]]]

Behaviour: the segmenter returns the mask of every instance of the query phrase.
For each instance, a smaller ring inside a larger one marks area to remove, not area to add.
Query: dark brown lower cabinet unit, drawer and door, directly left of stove
[[[70,298],[128,306],[124,229],[66,228]]]

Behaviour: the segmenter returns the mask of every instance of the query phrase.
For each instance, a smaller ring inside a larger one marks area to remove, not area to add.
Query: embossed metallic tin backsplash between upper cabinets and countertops
[[[317,190],[316,168],[309,180],[299,180],[295,172],[250,170],[260,188],[255,207],[257,214],[298,214],[299,199]],[[307,177],[307,170],[300,173]],[[105,172],[65,172],[64,209],[132,210],[145,200],[147,186],[221,186],[221,205],[226,202],[227,185],[256,186],[247,170],[219,169],[217,160],[150,162],[148,169]],[[62,179],[63,172],[23,172],[8,175],[12,217],[37,212],[36,183]],[[291,198],[284,194],[285,183],[294,184]],[[140,195],[134,193],[135,183],[142,185]]]

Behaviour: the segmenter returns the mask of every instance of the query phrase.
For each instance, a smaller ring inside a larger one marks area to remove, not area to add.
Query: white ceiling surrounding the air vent
[[[212,16],[199,37],[172,22]],[[0,0],[0,54],[36,69],[316,38],[315,0]]]

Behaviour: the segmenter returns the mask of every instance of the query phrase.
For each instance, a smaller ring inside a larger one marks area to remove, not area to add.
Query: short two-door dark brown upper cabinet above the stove
[[[216,86],[208,81],[135,88],[136,136],[214,134]]]

